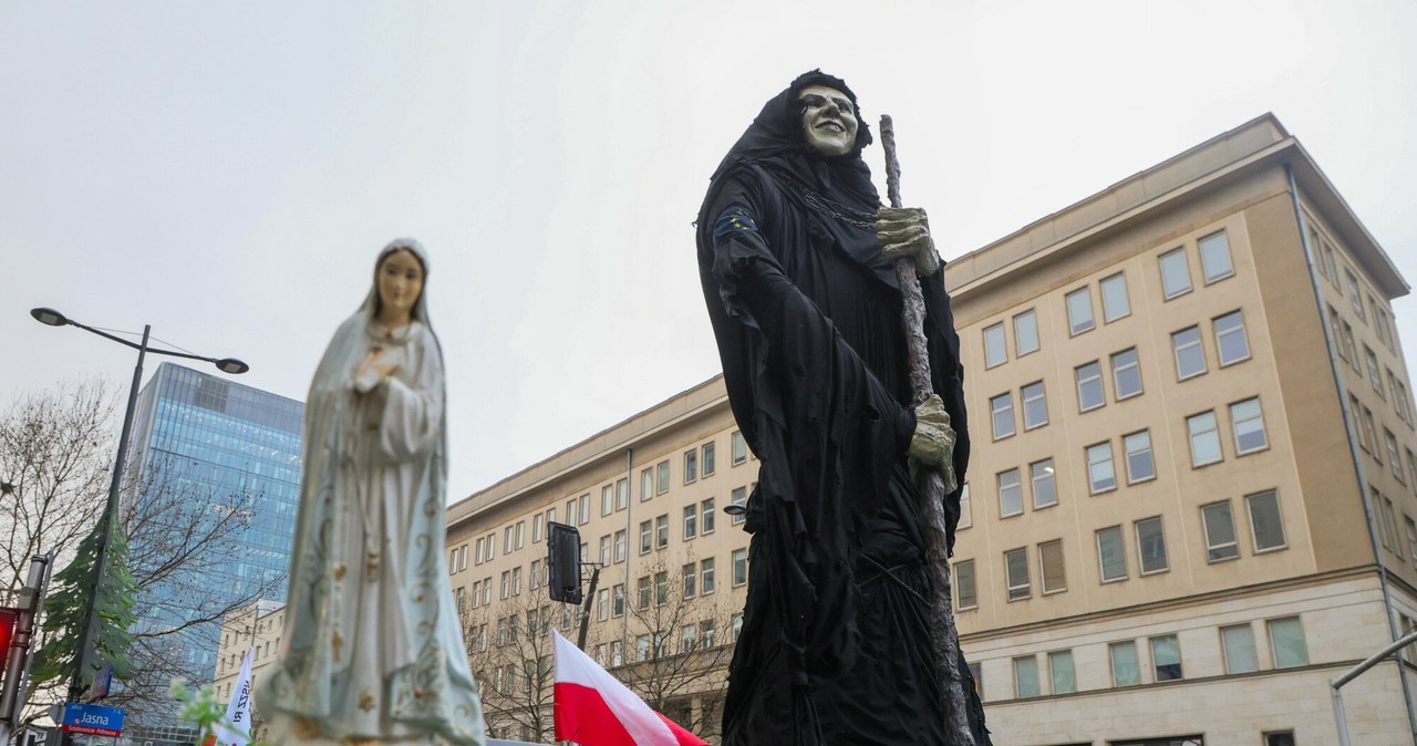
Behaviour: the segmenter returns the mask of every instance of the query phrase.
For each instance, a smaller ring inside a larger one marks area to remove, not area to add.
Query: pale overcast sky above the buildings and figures
[[[0,0],[0,406],[132,375],[35,306],[303,399],[412,235],[466,497],[718,372],[690,221],[818,67],[894,116],[947,259],[1274,112],[1413,282],[1413,38],[1411,0]]]

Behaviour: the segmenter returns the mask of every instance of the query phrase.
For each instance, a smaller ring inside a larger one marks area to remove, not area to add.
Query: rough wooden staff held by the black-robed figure
[[[890,116],[881,116],[881,147],[886,149],[886,194],[890,205],[900,208],[900,161],[896,160],[896,127]],[[930,351],[925,348],[925,297],[915,277],[915,260],[896,260],[896,282],[900,285],[901,317],[905,323],[905,348],[910,354],[910,388],[913,402],[935,394],[930,382]],[[945,729],[955,746],[975,746],[969,730],[968,699],[959,677],[959,636],[955,631],[955,612],[949,585],[949,528],[945,522],[945,480],[937,469],[921,474],[921,529],[925,536],[925,556],[935,597],[930,609],[930,647],[942,684]]]

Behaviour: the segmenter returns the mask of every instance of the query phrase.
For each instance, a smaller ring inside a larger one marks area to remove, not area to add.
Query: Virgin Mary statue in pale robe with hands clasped
[[[397,239],[305,406],[285,645],[256,692],[271,743],[482,746],[444,563],[444,367],[428,258]]]

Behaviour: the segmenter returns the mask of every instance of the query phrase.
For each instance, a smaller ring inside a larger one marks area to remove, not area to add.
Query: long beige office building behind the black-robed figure
[[[947,282],[973,439],[958,624],[995,742],[1335,743],[1329,679],[1417,619],[1417,437],[1408,287],[1308,153],[1263,116]],[[735,432],[716,378],[449,508],[497,735],[550,740],[527,630],[575,634],[550,521],[604,563],[588,651],[717,732],[748,545],[723,508],[757,471]],[[1343,688],[1355,743],[1413,743],[1406,655]]]

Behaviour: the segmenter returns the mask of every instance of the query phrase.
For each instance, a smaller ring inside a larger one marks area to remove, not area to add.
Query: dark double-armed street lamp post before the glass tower
[[[98,614],[98,593],[99,587],[102,586],[106,569],[105,565],[108,562],[108,548],[109,544],[112,544],[113,538],[113,522],[118,520],[118,510],[119,510],[118,491],[123,478],[123,460],[128,457],[128,436],[133,425],[133,411],[137,408],[137,389],[142,385],[142,378],[143,378],[143,358],[147,355],[147,352],[152,352],[154,355],[169,355],[186,360],[201,360],[214,364],[217,369],[227,374],[244,374],[248,369],[251,369],[251,367],[235,358],[218,360],[203,355],[194,355],[191,352],[179,352],[176,350],[160,350],[149,347],[147,340],[153,328],[149,324],[143,326],[143,341],[135,344],[122,337],[115,337],[113,334],[109,334],[106,331],[99,331],[94,327],[84,326],[54,309],[33,309],[30,311],[30,316],[33,316],[34,320],[40,321],[41,324],[48,324],[51,327],[64,327],[64,326],[79,327],[84,331],[98,334],[99,337],[103,337],[106,340],[112,340],[118,344],[137,350],[137,365],[133,367],[133,385],[128,389],[128,409],[123,412],[123,429],[119,430],[118,436],[118,457],[113,460],[113,480],[109,483],[108,487],[108,504],[103,507],[102,518],[99,518],[103,522],[103,531],[99,541],[98,558],[94,563],[94,583],[91,586],[92,595],[89,596],[88,609],[84,613],[84,629],[79,631],[79,645],[78,651],[75,653],[75,661],[74,661],[74,678],[69,679],[68,699],[69,702],[74,702],[78,701],[79,696],[82,696],[84,694],[84,671],[89,665],[89,643],[94,634],[94,621]],[[65,733],[65,742],[67,743],[69,742],[68,733]]]

